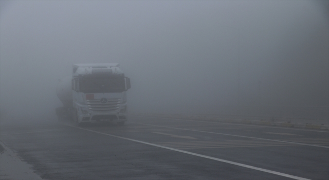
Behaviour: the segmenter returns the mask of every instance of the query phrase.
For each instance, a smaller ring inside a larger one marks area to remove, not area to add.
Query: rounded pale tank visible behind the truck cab
[[[57,97],[62,101],[64,107],[72,106],[72,76],[62,78],[57,84],[56,94]]]

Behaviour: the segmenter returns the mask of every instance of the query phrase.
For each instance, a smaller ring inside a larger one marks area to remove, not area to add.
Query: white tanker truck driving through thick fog
[[[120,125],[127,121],[130,79],[118,63],[73,64],[72,71],[57,85],[56,93],[63,103],[56,109],[59,120]]]

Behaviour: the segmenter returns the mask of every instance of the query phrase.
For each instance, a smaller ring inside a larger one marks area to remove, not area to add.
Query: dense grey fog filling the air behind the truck
[[[328,110],[328,1],[0,5],[2,118],[54,116],[58,80],[74,63],[120,63],[135,113]]]

